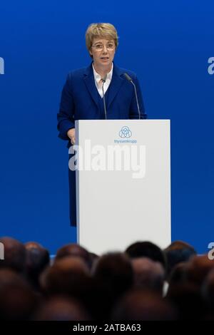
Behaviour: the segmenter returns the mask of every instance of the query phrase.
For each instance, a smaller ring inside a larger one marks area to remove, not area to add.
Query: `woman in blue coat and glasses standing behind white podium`
[[[86,31],[91,64],[68,73],[57,114],[58,137],[75,144],[75,120],[146,118],[136,74],[113,62],[118,33],[112,24],[91,24]],[[76,177],[69,170],[70,221],[76,225]]]

